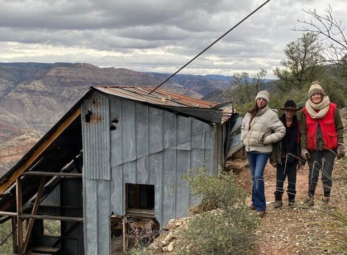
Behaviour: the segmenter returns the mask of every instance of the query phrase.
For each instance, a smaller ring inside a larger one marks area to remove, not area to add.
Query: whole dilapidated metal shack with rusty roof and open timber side
[[[0,223],[12,221],[14,253],[109,254],[112,218],[163,227],[200,202],[181,175],[204,162],[209,174],[224,167],[233,110],[150,91],[91,87],[0,178]],[[47,220],[60,234],[44,233]]]

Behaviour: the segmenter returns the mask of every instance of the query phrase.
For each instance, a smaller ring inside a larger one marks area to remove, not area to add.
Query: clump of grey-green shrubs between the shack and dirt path
[[[177,254],[247,254],[251,252],[253,230],[258,219],[245,205],[246,193],[235,184],[232,174],[213,176],[206,167],[182,176],[191,192],[202,196],[203,208],[191,217],[181,233]]]

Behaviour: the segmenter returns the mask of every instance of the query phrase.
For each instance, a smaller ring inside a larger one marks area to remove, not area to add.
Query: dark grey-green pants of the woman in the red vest
[[[314,191],[318,183],[319,171],[321,170],[321,181],[325,196],[330,196],[333,184],[332,173],[334,168],[335,152],[330,150],[309,151],[310,159],[308,186],[309,195],[314,196]]]

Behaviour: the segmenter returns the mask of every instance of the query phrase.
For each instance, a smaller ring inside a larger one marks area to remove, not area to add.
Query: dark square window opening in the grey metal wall
[[[154,210],[154,185],[126,184],[127,209]]]

